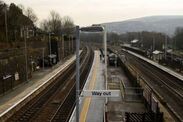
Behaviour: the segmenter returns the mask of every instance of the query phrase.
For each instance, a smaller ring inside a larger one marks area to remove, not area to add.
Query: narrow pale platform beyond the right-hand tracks
[[[127,51],[127,50],[124,50],[124,49],[123,49],[123,51],[128,52],[128,53],[130,53],[130,54],[132,54],[132,55],[134,55],[134,56],[136,56],[136,57],[138,57],[138,58],[140,58],[140,59],[150,63],[151,65],[154,65],[155,67],[157,67],[157,68],[159,68],[159,69],[161,69],[161,70],[171,74],[172,76],[174,76],[174,77],[176,77],[176,78],[178,78],[180,80],[183,80],[183,75],[181,75],[181,74],[179,74],[179,73],[177,73],[177,72],[175,72],[175,71],[173,71],[173,70],[171,70],[171,69],[169,69],[169,68],[167,68],[167,67],[165,67],[163,65],[160,65],[157,62],[154,62],[154,61],[152,61],[150,59],[147,59],[147,58],[145,58],[145,57],[143,57],[143,56],[141,56],[139,54],[136,54],[136,53],[134,53],[132,51]]]

